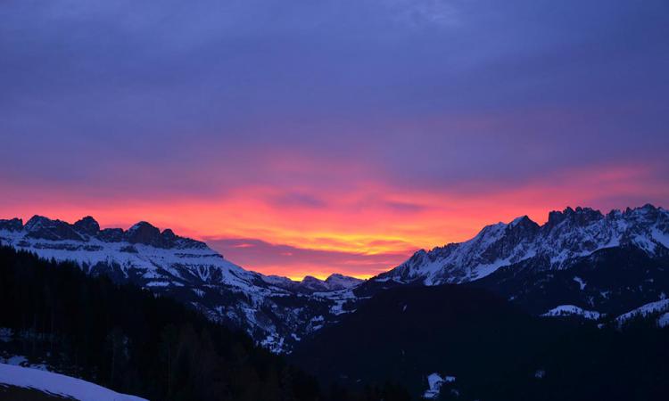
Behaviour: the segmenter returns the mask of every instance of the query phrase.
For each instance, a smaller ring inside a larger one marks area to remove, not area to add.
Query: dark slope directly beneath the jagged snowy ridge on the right
[[[669,296],[669,257],[650,258],[635,246],[598,250],[565,270],[538,269],[536,264],[541,261],[501,267],[464,285],[493,291],[533,315],[559,305],[621,315]]]

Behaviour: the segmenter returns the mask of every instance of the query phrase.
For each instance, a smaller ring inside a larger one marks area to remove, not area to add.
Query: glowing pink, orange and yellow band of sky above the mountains
[[[27,191],[17,187],[12,192]],[[343,196],[318,188],[282,192],[279,187],[245,186],[202,200],[169,195],[151,201],[130,195],[100,200],[86,192],[53,192],[48,202],[37,196],[5,200],[1,211],[24,220],[43,214],[74,222],[86,210],[104,227],[128,228],[146,220],[207,241],[229,260],[263,274],[368,278],[397,266],[415,250],[467,240],[491,222],[527,214],[541,224],[550,210],[576,205],[606,212],[621,207],[616,199],[639,192],[657,201],[669,195],[653,169],[625,167],[538,177],[494,191],[403,190],[380,181],[360,184]]]

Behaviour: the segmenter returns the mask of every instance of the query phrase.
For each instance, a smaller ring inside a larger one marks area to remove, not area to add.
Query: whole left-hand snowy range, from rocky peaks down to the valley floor
[[[350,288],[360,282],[341,274],[294,282],[247,271],[202,241],[146,222],[101,230],[93,217],[72,225],[40,216],[23,225],[13,218],[0,220],[0,242],[179,299],[275,352],[289,352],[301,337],[336,322],[350,310]]]

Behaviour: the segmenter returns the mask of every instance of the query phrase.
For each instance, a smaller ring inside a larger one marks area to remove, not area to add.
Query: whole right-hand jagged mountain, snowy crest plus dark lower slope
[[[566,208],[544,225],[518,217],[472,240],[419,250],[356,291],[444,283],[484,288],[533,315],[582,309],[607,321],[669,295],[669,211]]]

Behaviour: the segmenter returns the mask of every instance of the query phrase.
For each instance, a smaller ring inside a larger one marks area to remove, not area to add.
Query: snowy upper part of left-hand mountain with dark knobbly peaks
[[[0,242],[44,258],[74,260],[90,272],[119,266],[120,270],[112,269],[114,274],[147,285],[226,282],[240,286],[249,285],[258,275],[228,262],[204,242],[179,237],[171,230],[161,233],[146,222],[124,231],[100,230],[93,217],[73,225],[43,216],[31,217],[22,226],[19,219],[0,220]]]

